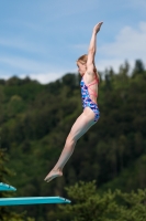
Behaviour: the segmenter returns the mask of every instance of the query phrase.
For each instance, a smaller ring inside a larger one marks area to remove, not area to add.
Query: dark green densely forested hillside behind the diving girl
[[[85,186],[96,180],[92,189],[97,188],[94,192],[101,196],[109,189],[119,189],[120,192],[115,193],[119,196],[121,191],[145,191],[145,66],[141,60],[136,60],[131,71],[128,62],[125,62],[120,66],[119,73],[111,67],[100,73],[100,119],[78,140],[75,152],[64,169],[64,177],[49,183],[44,178],[57,161],[74,122],[82,112],[80,76],[67,73],[45,85],[29,77],[0,80],[0,148],[9,157],[5,166],[11,168],[11,172],[3,171],[4,176],[0,169],[0,181],[16,187],[15,196],[68,198],[69,190],[66,188],[81,180]],[[75,192],[70,194],[71,199]],[[108,194],[113,199],[112,193]],[[65,208],[57,206],[12,207],[11,210],[18,213],[26,210],[27,217],[36,221],[57,221],[59,218],[56,214],[60,213],[60,221],[71,220],[67,219]],[[112,210],[109,215],[111,213]],[[110,217],[103,215],[99,220],[110,221]]]

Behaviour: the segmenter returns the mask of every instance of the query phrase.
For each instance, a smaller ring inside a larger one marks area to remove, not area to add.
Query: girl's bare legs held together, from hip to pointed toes
[[[83,113],[77,118],[77,120],[72,125],[71,130],[66,139],[66,144],[61,151],[61,155],[55,167],[46,176],[45,181],[49,182],[54,178],[63,176],[63,168],[70,158],[70,156],[72,155],[77,140],[93,124],[96,124],[93,119],[94,119],[94,113],[89,107],[86,107]]]

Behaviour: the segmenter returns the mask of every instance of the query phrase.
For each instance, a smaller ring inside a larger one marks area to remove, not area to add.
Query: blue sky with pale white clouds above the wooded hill
[[[0,78],[45,84],[77,73],[100,21],[99,71],[136,59],[146,66],[146,0],[0,0]]]

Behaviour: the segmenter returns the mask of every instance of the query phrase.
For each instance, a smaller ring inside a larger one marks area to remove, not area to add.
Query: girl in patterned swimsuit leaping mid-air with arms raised
[[[77,60],[78,71],[82,77],[80,87],[83,112],[72,125],[57,164],[46,176],[45,181],[47,182],[56,177],[63,176],[63,169],[72,155],[77,140],[94,125],[100,117],[97,104],[99,74],[94,65],[94,56],[97,50],[97,33],[100,31],[102,23],[103,22],[100,22],[93,28],[88,54]]]

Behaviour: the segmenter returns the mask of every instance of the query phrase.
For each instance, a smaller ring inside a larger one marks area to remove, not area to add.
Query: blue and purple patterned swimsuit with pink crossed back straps
[[[81,78],[80,82],[80,87],[81,87],[81,98],[82,98],[82,107],[83,109],[86,107],[90,107],[93,113],[94,113],[94,122],[98,122],[99,117],[100,117],[100,112],[99,112],[99,107],[98,105],[92,102],[92,99],[90,98],[90,94],[94,95],[97,97],[97,93],[93,92],[91,88],[89,88],[91,85],[97,84],[98,83],[98,78],[96,78],[91,84],[85,84],[83,77]],[[89,94],[89,90],[91,91]]]

